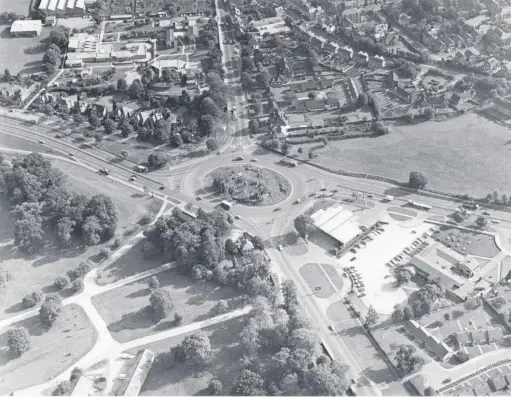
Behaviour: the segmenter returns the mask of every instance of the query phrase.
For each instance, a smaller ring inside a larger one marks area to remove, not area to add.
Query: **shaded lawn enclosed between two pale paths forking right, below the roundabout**
[[[215,316],[212,309],[220,299],[227,300],[230,309],[242,302],[240,295],[232,288],[219,287],[213,282],[194,281],[177,269],[160,273],[158,280],[160,288],[170,293],[174,302],[173,313],[183,316],[183,324]],[[147,282],[148,279],[143,279],[92,298],[112,336],[119,342],[141,338],[172,326],[173,313],[160,323],[153,321]]]

